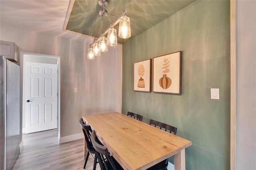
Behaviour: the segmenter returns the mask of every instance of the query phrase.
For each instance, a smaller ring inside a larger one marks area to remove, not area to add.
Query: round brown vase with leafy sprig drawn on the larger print
[[[159,85],[163,89],[168,89],[172,84],[172,79],[170,77],[167,77],[167,74],[166,74],[166,73],[169,73],[169,71],[170,71],[170,69],[168,69],[168,67],[170,66],[169,63],[170,63],[170,61],[168,61],[168,58],[165,58],[164,64],[163,64],[164,67],[162,67],[162,69],[165,69],[163,71],[164,74],[163,74],[163,77],[161,77],[159,79]]]

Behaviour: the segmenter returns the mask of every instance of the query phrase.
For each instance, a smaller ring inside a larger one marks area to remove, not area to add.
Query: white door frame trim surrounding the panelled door
[[[36,60],[31,61],[31,57],[39,57],[38,61],[40,63],[46,63],[44,62],[44,60],[46,60],[46,58],[52,59],[56,61],[57,64],[57,116],[58,116],[58,120],[57,120],[57,127],[58,127],[58,142],[60,143],[60,56],[54,56],[54,55],[46,55],[46,54],[39,54],[39,53],[30,53],[30,52],[25,52],[25,51],[20,51],[20,92],[21,92],[21,101],[20,101],[20,105],[22,106],[21,111],[22,111],[22,117],[21,120],[23,120],[23,115],[25,115],[25,69],[26,69],[26,62],[37,62]],[[23,95],[24,94],[24,95]],[[23,121],[21,121],[23,122]]]

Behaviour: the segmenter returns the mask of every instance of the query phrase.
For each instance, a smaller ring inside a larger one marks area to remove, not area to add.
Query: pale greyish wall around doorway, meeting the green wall
[[[88,60],[93,39],[87,36],[65,39],[1,23],[0,38],[15,42],[19,51],[60,56],[60,137],[81,133],[82,115],[121,112],[122,45],[108,47],[100,57]]]

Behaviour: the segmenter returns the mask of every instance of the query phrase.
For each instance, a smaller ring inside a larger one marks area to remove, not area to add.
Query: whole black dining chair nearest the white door
[[[92,140],[91,140],[91,133],[92,133],[92,128],[90,125],[86,125],[84,124],[84,121],[83,119],[81,118],[80,121],[80,126],[84,132],[84,138],[86,140],[86,148],[87,148],[87,155],[86,155],[86,159],[85,159],[85,162],[84,162],[84,169],[85,169],[85,166],[86,166],[86,163],[88,161],[88,158],[89,158],[89,154],[92,156],[92,154],[95,154],[95,156],[92,158],[94,158],[94,165],[93,165],[93,170],[96,170],[96,164],[97,164],[97,154],[96,154],[96,151],[92,145]]]

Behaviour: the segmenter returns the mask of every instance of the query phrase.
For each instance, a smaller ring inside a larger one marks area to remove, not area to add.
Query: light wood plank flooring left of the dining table
[[[84,167],[83,139],[58,143],[58,129],[23,134],[23,149],[12,170],[82,170]],[[86,170],[93,169],[89,156]],[[96,170],[100,170],[97,164]]]

